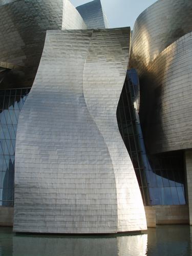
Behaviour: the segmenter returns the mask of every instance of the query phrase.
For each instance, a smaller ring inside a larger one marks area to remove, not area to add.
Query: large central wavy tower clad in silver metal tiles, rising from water
[[[14,230],[146,229],[116,108],[130,29],[49,31],[19,117]]]

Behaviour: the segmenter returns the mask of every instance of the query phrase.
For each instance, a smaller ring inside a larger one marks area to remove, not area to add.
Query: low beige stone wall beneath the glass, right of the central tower
[[[160,224],[189,224],[188,205],[145,206],[147,227]]]

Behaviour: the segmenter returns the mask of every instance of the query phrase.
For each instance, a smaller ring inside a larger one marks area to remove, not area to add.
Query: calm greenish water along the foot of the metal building
[[[123,236],[40,236],[0,227],[0,256],[192,255],[192,227],[165,225]]]

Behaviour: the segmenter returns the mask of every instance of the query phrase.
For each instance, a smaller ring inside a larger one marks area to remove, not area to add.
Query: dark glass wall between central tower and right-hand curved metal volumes
[[[185,204],[182,152],[148,155],[139,120],[139,79],[128,70],[117,108],[119,131],[130,154],[144,205]]]

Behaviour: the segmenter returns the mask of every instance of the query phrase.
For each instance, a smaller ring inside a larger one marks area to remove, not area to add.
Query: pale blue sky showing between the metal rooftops
[[[70,0],[77,7],[91,0]],[[131,27],[136,18],[156,0],[101,0],[103,10],[108,17],[110,28]]]

